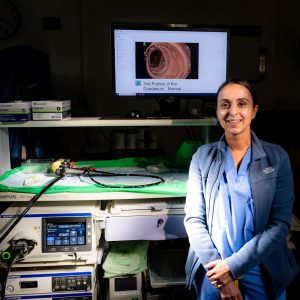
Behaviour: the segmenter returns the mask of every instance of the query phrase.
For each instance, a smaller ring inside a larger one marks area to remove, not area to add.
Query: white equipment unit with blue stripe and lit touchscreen
[[[14,267],[95,264],[101,236],[98,207],[97,201],[38,202],[1,243],[0,253],[10,241],[27,239],[36,245]],[[24,209],[24,203],[13,203],[1,214],[0,236]]]

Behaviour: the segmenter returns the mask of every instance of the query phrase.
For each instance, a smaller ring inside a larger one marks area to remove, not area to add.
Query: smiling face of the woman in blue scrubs
[[[228,84],[219,92],[217,118],[227,134],[250,133],[257,109],[249,90],[240,84]]]

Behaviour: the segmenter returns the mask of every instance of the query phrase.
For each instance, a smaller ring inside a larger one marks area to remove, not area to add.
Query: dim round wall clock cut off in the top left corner
[[[21,15],[11,0],[0,0],[0,40],[12,37],[19,29]]]

